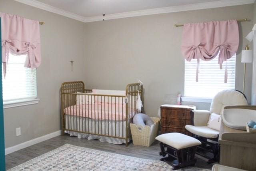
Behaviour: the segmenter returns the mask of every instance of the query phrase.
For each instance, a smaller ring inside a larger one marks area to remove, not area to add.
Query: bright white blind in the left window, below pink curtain
[[[36,69],[24,67],[26,57],[9,54],[5,79],[2,74],[4,102],[34,99],[37,96]]]

